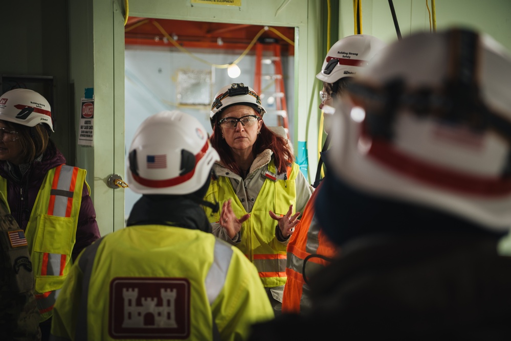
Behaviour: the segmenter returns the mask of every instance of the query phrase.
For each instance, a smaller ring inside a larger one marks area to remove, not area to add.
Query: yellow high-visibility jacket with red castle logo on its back
[[[55,304],[59,340],[241,340],[274,313],[254,266],[211,233],[134,225],[86,247]]]

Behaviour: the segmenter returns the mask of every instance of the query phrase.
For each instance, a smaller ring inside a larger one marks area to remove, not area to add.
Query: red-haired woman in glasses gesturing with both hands
[[[211,143],[220,155],[206,195],[213,234],[236,245],[259,271],[275,313],[281,312],[286,245],[312,187],[286,137],[263,122],[259,96],[243,83],[225,86],[211,107]]]

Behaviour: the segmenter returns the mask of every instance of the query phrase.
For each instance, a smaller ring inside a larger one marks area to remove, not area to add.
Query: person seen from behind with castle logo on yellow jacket
[[[126,170],[142,197],[125,229],[74,264],[55,304],[56,339],[242,340],[273,319],[254,265],[211,234],[202,205],[218,210],[203,200],[217,160],[194,117],[162,111],[142,122]]]

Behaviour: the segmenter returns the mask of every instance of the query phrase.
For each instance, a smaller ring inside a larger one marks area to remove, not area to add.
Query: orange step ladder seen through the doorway
[[[273,56],[263,57],[264,46],[268,46],[272,52]],[[284,89],[284,78],[282,76],[282,60],[280,54],[280,45],[276,42],[271,43],[255,43],[255,51],[256,51],[256,61],[255,61],[255,77],[254,77],[254,90],[260,96],[264,97],[266,93],[270,93],[271,96],[275,98],[275,113],[277,115],[278,124],[284,127],[284,130],[289,138],[289,123],[287,120],[287,104],[285,97],[285,89]],[[262,74],[262,64],[273,64],[274,73],[273,74]],[[261,80],[269,80],[267,84],[265,84],[264,88],[261,89]],[[266,91],[266,89],[274,88],[274,92]],[[266,111],[268,110],[266,108]]]

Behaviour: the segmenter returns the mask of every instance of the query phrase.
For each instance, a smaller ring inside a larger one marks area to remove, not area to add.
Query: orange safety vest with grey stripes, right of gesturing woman
[[[305,258],[313,255],[306,261],[305,275],[309,278],[319,268],[329,264],[328,260],[314,255],[331,259],[338,253],[338,248],[328,240],[315,218],[314,204],[322,184],[320,183],[307,202],[300,222],[287,244],[287,281],[282,298],[282,312],[299,313],[300,308],[310,306],[309,288],[302,273]]]

